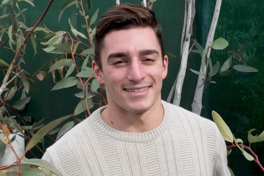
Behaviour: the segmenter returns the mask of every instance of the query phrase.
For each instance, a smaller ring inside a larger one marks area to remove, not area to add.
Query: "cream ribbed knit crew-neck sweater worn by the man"
[[[144,133],[107,125],[101,107],[43,155],[64,176],[229,176],[214,122],[162,101],[164,118]]]

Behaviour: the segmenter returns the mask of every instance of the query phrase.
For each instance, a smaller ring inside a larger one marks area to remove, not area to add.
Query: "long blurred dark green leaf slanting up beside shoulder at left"
[[[64,120],[72,117],[71,115],[67,115],[61,118],[58,118],[47,125],[43,126],[40,130],[37,131],[37,133],[31,138],[31,140],[28,142],[26,146],[26,151],[29,151],[32,147],[34,147],[47,133],[49,133],[52,129],[54,129],[56,126],[61,124]]]

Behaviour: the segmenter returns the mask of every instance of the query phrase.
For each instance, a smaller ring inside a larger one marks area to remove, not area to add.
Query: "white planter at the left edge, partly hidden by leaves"
[[[16,139],[12,142],[13,148],[16,151],[18,156],[22,156],[25,151],[25,139],[17,134],[10,134],[9,139],[11,140],[12,137],[16,135]],[[4,134],[0,133],[0,135],[2,135],[4,139],[6,139],[6,136]],[[5,155],[3,156],[3,158],[0,159],[0,167],[12,164],[16,160],[17,160],[17,157],[14,154],[14,152],[11,150],[11,148],[6,147]]]

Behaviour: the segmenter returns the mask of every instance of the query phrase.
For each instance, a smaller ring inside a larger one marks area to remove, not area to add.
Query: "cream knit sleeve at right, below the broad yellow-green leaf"
[[[231,176],[230,171],[227,167],[227,151],[224,138],[222,137],[220,131],[215,125],[217,132],[217,142],[216,142],[216,160],[214,165],[214,176]]]

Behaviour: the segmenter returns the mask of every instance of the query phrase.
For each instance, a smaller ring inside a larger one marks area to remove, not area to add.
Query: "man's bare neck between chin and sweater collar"
[[[142,133],[160,125],[164,110],[161,102],[156,102],[153,107],[143,113],[116,110],[108,106],[101,112],[104,121],[111,127],[129,133]]]

